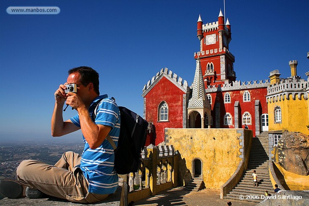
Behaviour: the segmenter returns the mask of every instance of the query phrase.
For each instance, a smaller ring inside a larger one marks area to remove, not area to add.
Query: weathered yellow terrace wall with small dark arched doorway
[[[242,134],[237,131],[242,131]],[[175,151],[179,151],[191,174],[194,174],[194,160],[200,159],[205,187],[220,189],[242,161],[240,151],[243,148],[243,131],[219,128],[166,128],[165,141],[167,145],[173,145]],[[245,134],[251,134],[252,138],[252,132]]]

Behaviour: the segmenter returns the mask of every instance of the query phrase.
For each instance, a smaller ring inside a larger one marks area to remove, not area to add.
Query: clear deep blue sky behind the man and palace
[[[9,6],[58,6],[57,15],[9,15]],[[196,22],[214,22],[223,0],[208,1],[1,1],[0,142],[53,140],[53,93],[67,71],[91,66],[100,92],[143,115],[142,88],[167,67],[193,81],[199,51]],[[308,1],[226,0],[231,23],[230,51],[237,80],[267,79],[288,61],[309,71]],[[76,111],[64,112],[68,119]],[[67,139],[80,140],[81,133]]]

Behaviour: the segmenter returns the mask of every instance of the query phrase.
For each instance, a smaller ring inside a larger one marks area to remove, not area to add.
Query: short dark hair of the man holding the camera
[[[92,82],[95,93],[97,93],[98,95],[100,94],[99,74],[94,69],[88,66],[80,66],[70,69],[68,71],[69,75],[75,72],[78,72],[80,74],[80,82],[82,84],[89,84],[90,82]]]

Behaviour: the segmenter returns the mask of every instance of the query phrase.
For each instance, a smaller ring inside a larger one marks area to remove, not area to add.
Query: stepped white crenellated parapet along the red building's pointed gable
[[[185,93],[190,92],[190,88],[188,86],[188,82],[183,78],[179,77],[177,74],[173,73],[171,70],[167,68],[162,68],[155,76],[153,76],[147,84],[145,84],[143,88],[142,97],[145,95],[162,79],[166,77],[168,80],[173,82],[178,88],[183,90]]]

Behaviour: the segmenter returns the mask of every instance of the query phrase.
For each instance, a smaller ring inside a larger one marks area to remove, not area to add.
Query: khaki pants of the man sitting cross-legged
[[[47,195],[78,203],[95,203],[108,194],[88,192],[88,181],[78,167],[81,156],[66,152],[53,166],[37,160],[24,160],[17,168],[17,178],[29,187]]]

